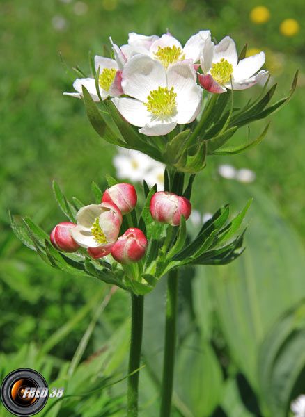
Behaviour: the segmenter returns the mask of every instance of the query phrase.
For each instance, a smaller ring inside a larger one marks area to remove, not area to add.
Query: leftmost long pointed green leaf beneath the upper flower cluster
[[[105,122],[102,114],[100,113],[99,109],[97,108],[95,102],[93,101],[91,95],[89,94],[88,90],[82,86],[83,88],[83,97],[84,103],[86,106],[86,113],[91,122],[93,129],[107,142],[111,143],[112,145],[118,145],[126,147],[126,143],[123,142],[119,138],[119,136],[114,132],[111,127]]]

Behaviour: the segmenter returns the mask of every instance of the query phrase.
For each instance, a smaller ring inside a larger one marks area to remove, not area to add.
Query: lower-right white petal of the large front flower
[[[185,124],[193,122],[201,109],[203,89],[199,85],[194,85],[189,90],[185,90],[184,95],[177,95],[177,122]]]

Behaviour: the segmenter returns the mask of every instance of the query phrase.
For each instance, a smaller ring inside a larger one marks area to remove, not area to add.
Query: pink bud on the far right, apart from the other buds
[[[150,214],[156,222],[171,224],[172,226],[180,224],[182,214],[185,216],[185,220],[191,214],[189,200],[168,191],[155,193],[150,200],[149,208]]]

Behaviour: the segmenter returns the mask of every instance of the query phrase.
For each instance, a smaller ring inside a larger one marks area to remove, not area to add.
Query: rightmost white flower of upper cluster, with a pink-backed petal
[[[231,88],[231,79],[233,90],[244,90],[260,81],[267,80],[268,71],[258,72],[264,63],[265,54],[263,51],[238,62],[233,39],[226,36],[219,44],[215,45],[209,38],[201,53],[203,74],[198,74],[198,79],[203,88],[210,92],[226,92],[227,88]]]

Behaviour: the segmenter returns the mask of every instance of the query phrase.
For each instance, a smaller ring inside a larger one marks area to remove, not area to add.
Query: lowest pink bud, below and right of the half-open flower
[[[146,246],[147,240],[143,231],[130,227],[116,240],[111,249],[111,255],[123,265],[139,262],[145,254]]]

